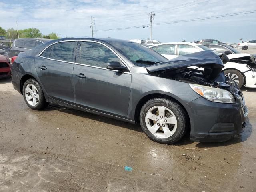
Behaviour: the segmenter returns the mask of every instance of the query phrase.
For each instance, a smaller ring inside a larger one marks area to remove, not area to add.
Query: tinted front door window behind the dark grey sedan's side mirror
[[[107,62],[117,61],[120,59],[106,46],[95,42],[81,42],[80,63],[106,68]]]

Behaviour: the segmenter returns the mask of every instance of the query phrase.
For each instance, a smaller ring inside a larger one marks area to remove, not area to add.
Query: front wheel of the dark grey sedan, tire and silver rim
[[[178,103],[172,100],[154,98],[142,106],[140,125],[151,140],[172,144],[185,134],[186,113]]]

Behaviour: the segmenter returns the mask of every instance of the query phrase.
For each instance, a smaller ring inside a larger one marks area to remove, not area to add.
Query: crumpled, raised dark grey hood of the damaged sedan
[[[211,66],[218,68],[220,71],[224,68],[224,64],[218,55],[213,50],[200,51],[192,54],[176,57],[174,59],[160,62],[147,67],[148,72],[158,72],[163,70],[177,69],[190,66]]]

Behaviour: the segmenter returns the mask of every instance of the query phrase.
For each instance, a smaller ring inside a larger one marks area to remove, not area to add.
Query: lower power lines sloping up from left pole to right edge
[[[172,24],[172,23],[191,22],[191,21],[198,21],[198,20],[236,16],[236,15],[242,15],[242,14],[250,14],[250,13],[256,13],[256,10],[246,11],[246,12],[238,12],[238,13],[230,13],[230,14],[217,15],[217,16],[210,16],[210,17],[203,17],[203,18],[194,18],[194,19],[188,19],[188,20],[178,20],[178,21],[171,21],[171,22],[164,22],[164,23],[156,23],[156,24],[152,24],[152,25],[164,25],[164,24]],[[125,30],[125,29],[132,29],[132,28],[145,28],[145,27],[149,27],[149,26],[150,25],[138,25],[138,26],[130,26],[130,27],[114,28],[114,29],[102,29],[102,30],[97,30],[97,31]]]

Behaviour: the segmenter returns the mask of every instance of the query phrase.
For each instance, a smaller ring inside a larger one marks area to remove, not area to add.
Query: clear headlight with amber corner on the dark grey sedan
[[[217,103],[235,103],[233,95],[224,89],[196,84],[189,84],[189,86],[196,93],[198,93],[200,96],[206,98],[209,101]]]

